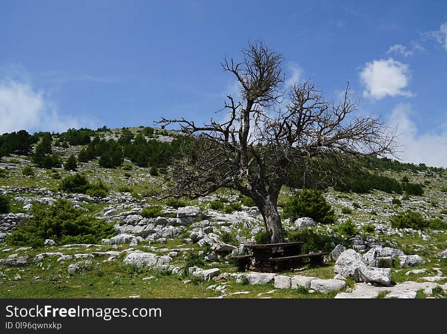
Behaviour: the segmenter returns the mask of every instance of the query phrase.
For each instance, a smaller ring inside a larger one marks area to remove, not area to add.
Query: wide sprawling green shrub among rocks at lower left
[[[65,199],[52,205],[34,203],[32,219],[25,220],[6,237],[9,245],[42,246],[45,239],[58,244],[97,244],[115,235],[113,224],[89,217]]]

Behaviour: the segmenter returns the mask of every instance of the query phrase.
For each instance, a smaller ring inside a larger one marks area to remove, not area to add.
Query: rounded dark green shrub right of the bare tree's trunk
[[[319,190],[303,189],[299,196],[291,196],[284,205],[284,218],[296,220],[310,217],[322,224],[331,224],[335,220],[334,210]]]

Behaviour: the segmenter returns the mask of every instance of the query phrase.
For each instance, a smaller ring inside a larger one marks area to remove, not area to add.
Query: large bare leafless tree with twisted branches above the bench
[[[227,96],[220,109],[227,120],[211,118],[201,126],[184,118],[157,122],[177,124],[194,138],[174,164],[170,194],[197,198],[219,188],[239,191],[259,207],[270,242],[282,242],[277,201],[293,171],[330,178],[335,165],[343,165],[337,161],[349,156],[393,154],[395,132],[378,118],[354,115],[359,101],[349,84],[342,101],[330,103],[309,80],[286,86],[282,54],[262,41],[242,53],[240,63],[221,63],[236,77],[241,96]]]

